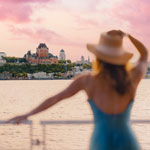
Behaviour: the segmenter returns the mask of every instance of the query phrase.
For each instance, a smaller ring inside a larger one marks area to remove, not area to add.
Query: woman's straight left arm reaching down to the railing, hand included
[[[29,113],[22,115],[22,116],[17,116],[15,118],[12,118],[9,120],[9,122],[14,122],[19,124],[22,120],[26,120],[29,116],[32,116],[34,114],[37,114],[41,111],[44,111],[48,109],[49,107],[55,105],[57,102],[71,97],[80,90],[83,90],[85,88],[85,82],[86,82],[86,75],[80,76],[77,79],[75,79],[65,90],[62,92],[58,93],[57,95],[47,98],[43,103],[41,103],[38,107],[35,109],[31,110]]]

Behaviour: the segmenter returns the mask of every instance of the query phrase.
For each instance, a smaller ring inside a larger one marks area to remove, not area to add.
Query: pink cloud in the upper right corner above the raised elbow
[[[120,11],[121,10],[121,11]],[[150,37],[150,1],[132,0],[116,5],[112,13],[122,23],[130,24],[129,32],[142,37],[148,43]]]

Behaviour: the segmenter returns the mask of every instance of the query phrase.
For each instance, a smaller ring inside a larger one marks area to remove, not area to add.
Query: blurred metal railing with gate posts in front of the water
[[[6,124],[12,124],[13,123],[8,123],[6,121],[0,120],[0,125],[6,125]],[[33,139],[33,122],[31,120],[23,121],[22,124],[24,125],[29,125],[30,130],[30,150],[33,149],[34,145],[43,145],[43,150],[46,149],[46,126],[48,125],[86,125],[86,124],[93,124],[92,120],[45,120],[45,121],[40,121],[40,125],[42,126],[42,140],[34,140]],[[150,124],[150,120],[131,120],[131,124]]]

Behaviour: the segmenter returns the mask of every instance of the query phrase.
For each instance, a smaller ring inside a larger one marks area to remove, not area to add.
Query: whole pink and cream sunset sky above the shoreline
[[[0,0],[0,51],[23,57],[46,43],[67,59],[87,59],[87,43],[101,32],[121,29],[150,48],[150,0]],[[128,39],[125,47],[138,56]]]

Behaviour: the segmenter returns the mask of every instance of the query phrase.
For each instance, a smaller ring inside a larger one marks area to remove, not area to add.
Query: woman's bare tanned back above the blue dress
[[[117,114],[123,112],[130,101],[134,99],[136,87],[130,87],[129,92],[120,95],[111,86],[109,77],[87,76],[86,93],[88,99],[93,100],[98,108],[108,114]],[[131,81],[132,82],[132,81]]]

